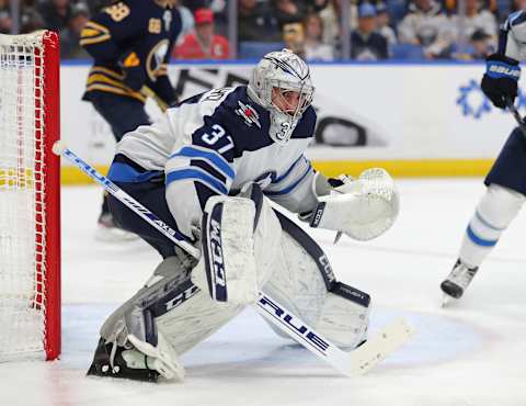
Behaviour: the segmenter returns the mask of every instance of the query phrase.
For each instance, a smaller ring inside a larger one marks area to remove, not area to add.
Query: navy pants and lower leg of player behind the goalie
[[[145,104],[139,100],[113,94],[108,92],[91,92],[90,101],[94,109],[112,128],[113,136],[118,143],[124,134],[134,131],[139,125],[150,124],[150,119],[145,110]],[[115,227],[113,216],[107,206],[107,193],[103,194],[101,214],[99,216],[100,230],[98,238],[102,240],[127,240],[136,237],[123,233]]]

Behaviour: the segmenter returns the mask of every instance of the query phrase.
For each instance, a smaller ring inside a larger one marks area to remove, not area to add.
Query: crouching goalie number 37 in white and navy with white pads
[[[270,204],[359,240],[382,234],[398,214],[385,170],[353,180],[312,169],[304,153],[315,133],[313,92],[305,61],[271,53],[249,86],[184,100],[118,143],[110,179],[202,257],[192,260],[110,196],[115,221],[163,261],[102,326],[89,374],[181,377],[178,357],[255,303],[260,290],[342,348],[366,339],[369,295],[339,282],[322,249]]]

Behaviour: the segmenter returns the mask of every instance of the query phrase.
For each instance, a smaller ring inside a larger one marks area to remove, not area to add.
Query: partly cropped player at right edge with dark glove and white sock
[[[499,49],[487,58],[481,88],[499,109],[517,95],[518,63],[526,57],[526,11],[511,14],[500,32]],[[526,138],[516,127],[484,184],[488,187],[466,229],[459,257],[441,287],[445,298],[462,296],[479,266],[523,206],[526,195]]]

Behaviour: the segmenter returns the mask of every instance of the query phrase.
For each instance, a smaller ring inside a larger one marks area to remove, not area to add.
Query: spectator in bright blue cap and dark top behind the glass
[[[376,9],[369,3],[358,7],[358,26],[351,32],[351,58],[379,60],[389,57],[387,40],[376,32]]]

